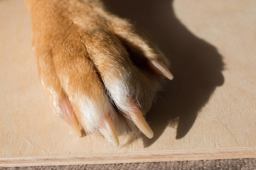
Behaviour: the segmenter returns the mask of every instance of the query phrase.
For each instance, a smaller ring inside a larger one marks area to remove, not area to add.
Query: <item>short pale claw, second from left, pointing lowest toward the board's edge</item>
[[[119,146],[119,140],[117,137],[117,132],[115,130],[115,127],[109,117],[109,115],[106,115],[99,123],[99,131],[101,134],[110,141],[111,144],[113,144],[115,147]]]

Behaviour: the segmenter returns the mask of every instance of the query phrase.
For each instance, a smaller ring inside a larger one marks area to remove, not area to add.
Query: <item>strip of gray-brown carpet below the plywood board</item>
[[[0,170],[256,170],[255,159],[0,168]]]

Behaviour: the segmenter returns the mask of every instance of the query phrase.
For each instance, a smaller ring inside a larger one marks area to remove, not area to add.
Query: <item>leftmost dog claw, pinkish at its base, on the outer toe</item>
[[[77,121],[76,115],[74,114],[74,111],[67,96],[63,97],[63,99],[61,100],[60,108],[63,117],[67,124],[70,125],[72,132],[74,132],[76,136],[81,137],[82,134],[79,128],[79,123]]]

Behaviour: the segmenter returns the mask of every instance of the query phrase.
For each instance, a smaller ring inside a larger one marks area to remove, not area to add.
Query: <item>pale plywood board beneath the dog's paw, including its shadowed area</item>
[[[38,79],[25,5],[1,0],[0,166],[255,158],[256,1],[110,2],[172,61],[175,78],[147,117],[154,138],[120,136],[114,148],[70,134]]]

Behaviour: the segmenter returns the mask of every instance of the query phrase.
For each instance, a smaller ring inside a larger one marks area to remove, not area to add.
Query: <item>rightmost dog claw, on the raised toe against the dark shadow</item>
[[[169,69],[159,60],[149,59],[149,66],[156,73],[168,79],[173,79],[173,74],[171,73],[171,71],[169,71]]]

